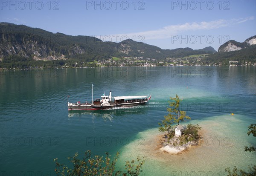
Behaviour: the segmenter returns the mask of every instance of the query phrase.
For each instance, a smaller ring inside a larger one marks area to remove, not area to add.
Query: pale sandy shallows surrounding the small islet
[[[132,142],[124,146],[120,161],[145,156],[145,173],[161,173],[164,176],[171,175],[172,172],[174,175],[176,171],[179,172],[178,175],[195,175],[194,172],[196,175],[202,175],[202,172],[219,175],[220,170],[224,172],[225,168],[233,168],[235,164],[240,168],[247,168],[248,164],[253,164],[255,156],[244,152],[244,146],[249,146],[250,143],[246,133],[248,123],[242,122],[241,118],[243,116],[237,118],[221,115],[201,121],[195,120],[193,124],[198,123],[202,127],[199,134],[203,140],[198,146],[191,146],[188,150],[178,153],[161,150],[164,147],[162,143],[165,140],[165,133],[159,132],[157,128],[140,132],[136,136],[140,139],[140,144]],[[245,129],[244,132],[241,132],[242,129],[237,131],[241,126]]]

